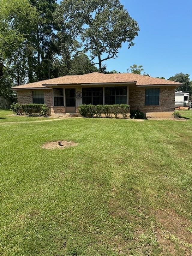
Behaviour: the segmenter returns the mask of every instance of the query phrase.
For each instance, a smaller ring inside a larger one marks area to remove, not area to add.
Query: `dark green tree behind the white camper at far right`
[[[190,92],[190,94],[192,93],[192,87],[191,87],[191,82],[189,79],[189,74],[179,73],[173,77],[170,77],[168,80],[179,82],[179,83],[183,84],[182,86],[177,87],[176,91]]]

